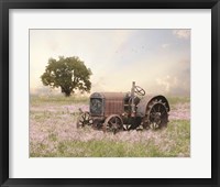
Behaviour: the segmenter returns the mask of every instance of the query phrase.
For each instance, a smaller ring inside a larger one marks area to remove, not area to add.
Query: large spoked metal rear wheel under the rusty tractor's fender
[[[152,100],[146,109],[146,121],[147,127],[154,130],[167,127],[168,108],[166,102],[162,102],[160,99]]]

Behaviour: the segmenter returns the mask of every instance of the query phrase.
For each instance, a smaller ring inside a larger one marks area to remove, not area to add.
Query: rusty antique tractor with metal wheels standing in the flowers
[[[91,125],[103,132],[167,127],[169,105],[164,96],[145,96],[145,90],[132,82],[129,92],[94,92],[89,111],[81,111],[77,128]]]

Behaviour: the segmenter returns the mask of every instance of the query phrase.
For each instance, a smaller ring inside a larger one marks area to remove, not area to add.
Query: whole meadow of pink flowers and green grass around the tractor
[[[30,157],[189,157],[190,99],[168,101],[167,128],[112,134],[76,128],[87,97],[30,96]]]

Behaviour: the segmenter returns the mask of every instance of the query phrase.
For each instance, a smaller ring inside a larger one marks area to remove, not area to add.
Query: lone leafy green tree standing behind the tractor
[[[58,61],[48,59],[45,73],[41,76],[44,86],[61,87],[62,92],[69,97],[75,90],[89,92],[91,70],[78,57],[63,57]]]

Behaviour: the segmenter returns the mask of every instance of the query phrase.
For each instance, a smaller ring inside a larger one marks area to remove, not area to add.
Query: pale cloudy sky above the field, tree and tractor
[[[59,56],[91,69],[90,92],[128,92],[135,81],[146,94],[190,95],[190,30],[30,30],[31,94],[52,91],[40,77]]]

